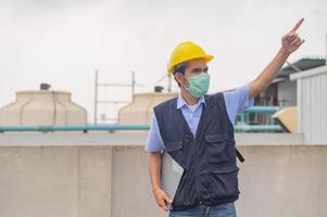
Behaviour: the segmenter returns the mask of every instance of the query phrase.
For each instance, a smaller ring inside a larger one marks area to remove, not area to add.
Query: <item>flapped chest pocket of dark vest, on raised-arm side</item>
[[[228,162],[228,145],[227,132],[219,132],[214,135],[205,135],[205,142],[207,144],[207,161],[209,163],[227,163]]]

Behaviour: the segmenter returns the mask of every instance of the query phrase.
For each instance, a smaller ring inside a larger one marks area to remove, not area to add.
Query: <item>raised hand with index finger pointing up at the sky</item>
[[[298,48],[300,48],[302,43],[304,43],[304,40],[301,39],[297,34],[297,30],[301,26],[303,21],[304,18],[301,18],[297,23],[297,25],[281,38],[281,49],[284,52],[286,52],[286,54],[291,54],[292,52],[298,50]]]

